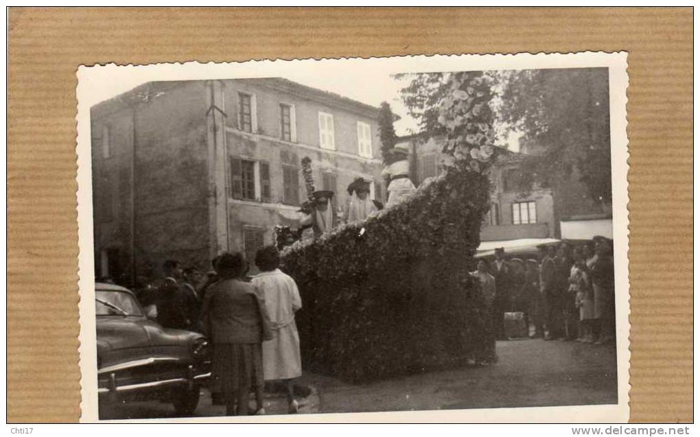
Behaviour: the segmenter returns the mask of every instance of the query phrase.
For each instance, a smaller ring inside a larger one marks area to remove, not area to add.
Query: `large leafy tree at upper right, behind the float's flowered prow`
[[[555,187],[576,174],[590,198],[612,202],[608,69],[546,69],[496,74],[498,121],[533,152],[521,164]]]

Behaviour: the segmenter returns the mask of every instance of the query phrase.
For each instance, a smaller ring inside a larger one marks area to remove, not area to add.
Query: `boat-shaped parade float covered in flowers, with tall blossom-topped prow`
[[[448,80],[440,176],[312,238],[278,229],[282,268],[304,304],[297,326],[308,371],[366,382],[496,359],[489,308],[470,275],[496,155],[490,89],[482,73]]]

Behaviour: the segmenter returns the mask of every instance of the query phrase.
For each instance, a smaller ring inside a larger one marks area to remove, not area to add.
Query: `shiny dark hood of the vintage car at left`
[[[97,317],[97,341],[103,348],[111,350],[186,345],[201,336],[195,332],[163,328],[146,317]]]

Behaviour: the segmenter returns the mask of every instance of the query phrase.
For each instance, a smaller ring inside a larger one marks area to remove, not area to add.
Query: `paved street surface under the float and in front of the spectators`
[[[323,375],[304,374],[300,385],[314,392],[300,399],[300,414],[396,410],[566,406],[617,402],[615,346],[575,342],[513,340],[496,343],[498,362],[351,385]],[[251,403],[251,407],[252,407]],[[285,414],[286,401],[265,396],[268,415]],[[223,416],[202,392],[200,417]],[[168,403],[132,403],[121,417],[174,417]]]

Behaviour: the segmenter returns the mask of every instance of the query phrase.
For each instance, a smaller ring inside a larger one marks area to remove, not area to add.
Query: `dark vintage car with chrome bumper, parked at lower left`
[[[97,283],[97,392],[100,415],[129,401],[172,402],[190,415],[210,377],[207,338],[149,320],[130,290]]]

